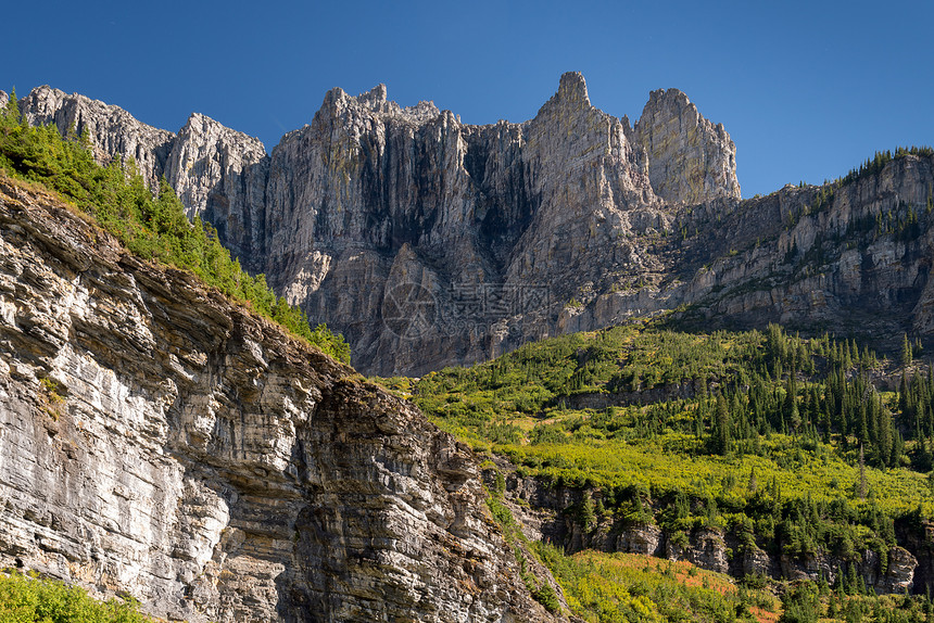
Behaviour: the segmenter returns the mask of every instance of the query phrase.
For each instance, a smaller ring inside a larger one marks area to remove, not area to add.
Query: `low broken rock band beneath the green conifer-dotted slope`
[[[785,580],[821,578],[833,584],[850,565],[868,588],[879,594],[923,593],[931,585],[934,558],[932,538],[919,541],[918,531],[899,534],[901,545],[887,546],[885,552],[867,549],[855,557],[842,558],[819,549],[806,555],[791,554],[779,542],[753,543],[722,526],[696,525],[684,532],[669,532],[653,520],[632,522],[604,513],[584,526],[578,509],[585,497],[599,498],[599,491],[555,485],[544,478],[521,476],[505,459],[496,458],[495,468],[483,476],[492,487],[495,475],[504,474],[504,500],[526,536],[561,547],[567,554],[583,549],[623,551],[670,560],[686,560],[696,567],[729,573],[742,578],[766,575]],[[643,500],[649,516],[660,517],[660,508]],[[929,535],[930,536],[930,535]]]

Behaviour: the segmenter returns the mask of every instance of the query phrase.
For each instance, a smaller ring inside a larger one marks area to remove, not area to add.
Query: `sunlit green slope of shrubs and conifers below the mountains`
[[[934,517],[934,380],[882,392],[867,371],[879,365],[853,342],[777,326],[629,326],[429,373],[414,396],[523,475],[591,491],[606,520],[676,536],[716,525],[802,559],[869,548],[885,560],[896,521],[914,530]],[[580,394],[611,406],[569,408]]]

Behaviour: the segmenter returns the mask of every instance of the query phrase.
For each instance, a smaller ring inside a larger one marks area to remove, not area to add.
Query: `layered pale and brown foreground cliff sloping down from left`
[[[547,621],[465,446],[0,180],[0,567],[190,621]]]

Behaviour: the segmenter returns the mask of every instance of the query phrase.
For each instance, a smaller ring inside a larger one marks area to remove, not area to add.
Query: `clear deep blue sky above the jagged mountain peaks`
[[[35,7],[35,5],[34,5]],[[200,112],[260,137],[328,89],[384,82],[471,124],[533,117],[563,72],[634,122],[676,87],[722,123],[744,196],[934,144],[934,2],[27,2],[3,10],[0,88],[49,84],[177,130]]]

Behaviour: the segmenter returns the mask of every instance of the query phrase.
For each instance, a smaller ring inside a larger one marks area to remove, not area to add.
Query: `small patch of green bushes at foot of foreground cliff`
[[[135,601],[97,601],[75,586],[0,572],[2,623],[150,623]]]

